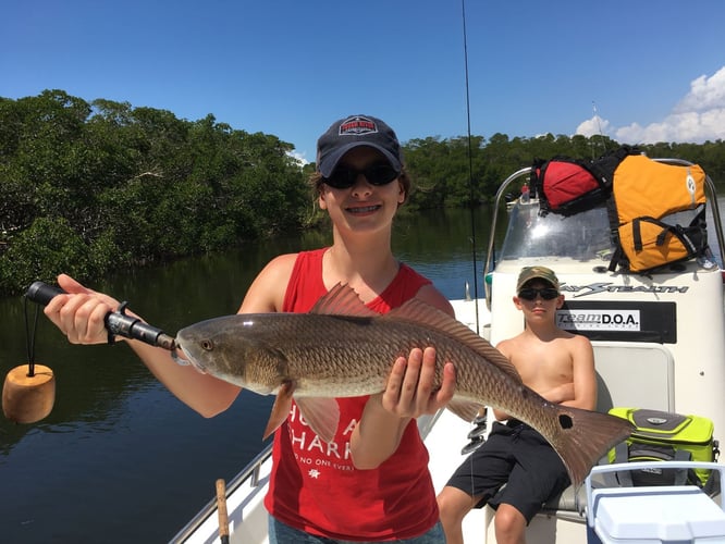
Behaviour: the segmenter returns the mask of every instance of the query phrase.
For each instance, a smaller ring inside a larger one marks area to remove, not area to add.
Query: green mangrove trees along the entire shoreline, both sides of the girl
[[[489,203],[534,158],[593,158],[606,136],[423,137],[403,144],[415,190],[401,210]],[[725,143],[653,144],[652,158],[699,163],[725,180]],[[469,153],[470,150],[470,153]],[[315,164],[277,136],[63,90],[0,97],[0,297],[60,272],[81,281],[120,269],[317,228]],[[470,157],[469,157],[470,154]]]

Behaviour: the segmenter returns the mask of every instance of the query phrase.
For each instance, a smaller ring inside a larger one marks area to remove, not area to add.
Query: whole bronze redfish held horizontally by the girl
[[[456,370],[448,409],[470,421],[492,406],[529,424],[556,450],[575,485],[632,429],[622,418],[545,400],[491,344],[425,302],[411,299],[380,316],[346,286],[331,289],[309,313],[211,319],[181,330],[176,344],[204,372],[300,400],[380,393],[398,357],[433,346],[435,386],[446,361]],[[315,416],[304,416],[315,429]]]

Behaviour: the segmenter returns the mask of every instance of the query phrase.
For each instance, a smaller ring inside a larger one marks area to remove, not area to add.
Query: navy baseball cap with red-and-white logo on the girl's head
[[[317,140],[317,170],[323,177],[330,177],[340,159],[358,146],[377,149],[397,172],[403,169],[395,132],[378,118],[358,114],[335,121]]]

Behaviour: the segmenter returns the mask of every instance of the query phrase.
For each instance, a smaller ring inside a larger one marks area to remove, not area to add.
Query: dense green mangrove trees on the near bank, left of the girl
[[[307,188],[292,150],[213,115],[62,90],[0,99],[0,294],[300,228]]]

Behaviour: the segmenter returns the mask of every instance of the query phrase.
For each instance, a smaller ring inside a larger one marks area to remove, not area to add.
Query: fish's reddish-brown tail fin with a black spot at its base
[[[616,444],[629,436],[629,421],[595,411],[560,406],[558,432],[551,441],[566,467],[572,484],[578,487],[591,468]]]

